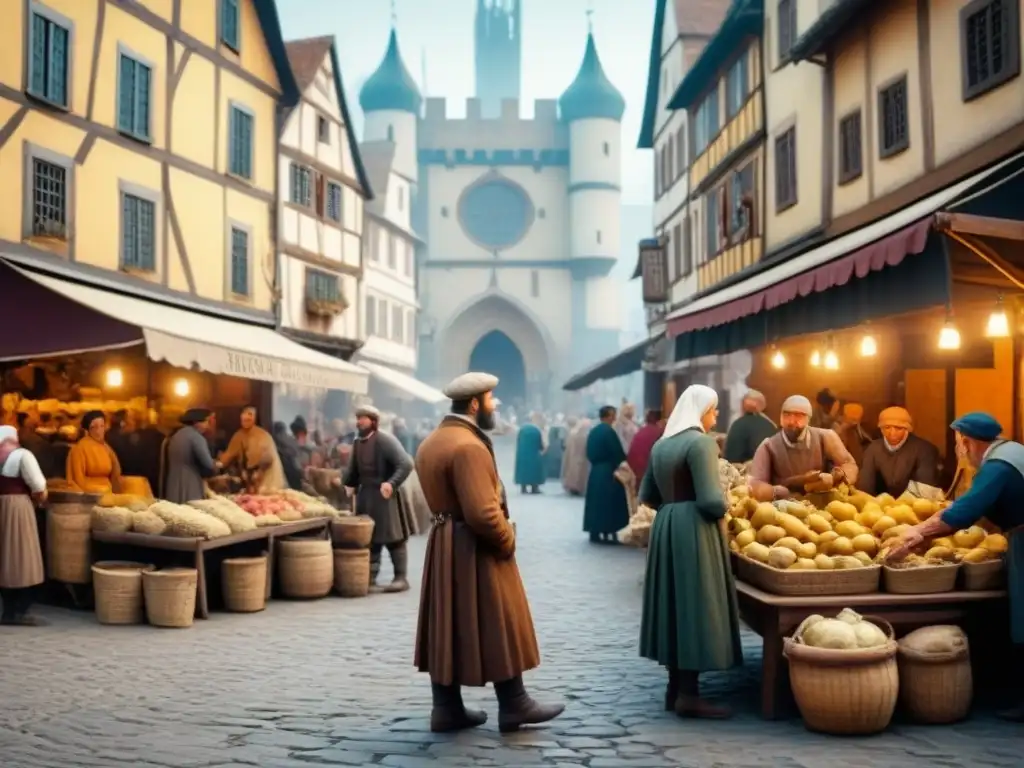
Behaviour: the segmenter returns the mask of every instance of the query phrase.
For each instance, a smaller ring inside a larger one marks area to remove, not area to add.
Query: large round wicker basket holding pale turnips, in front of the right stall
[[[879,733],[892,720],[899,691],[893,628],[874,616],[864,621],[881,627],[889,641],[878,648],[833,650],[804,645],[800,630],[785,639],[793,694],[810,730]]]

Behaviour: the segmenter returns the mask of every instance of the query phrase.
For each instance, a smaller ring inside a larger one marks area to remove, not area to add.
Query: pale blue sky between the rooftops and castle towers
[[[605,72],[626,97],[623,119],[623,202],[650,205],[649,151],[637,151],[643,115],[654,0],[523,0],[522,98],[557,98],[575,77],[587,37],[588,8]],[[384,54],[390,0],[278,0],[288,40],[332,34],[356,130],[358,87]],[[455,99],[461,117],[473,95],[473,15],[476,0],[396,0],[398,40],[410,72],[426,94]],[[530,108],[525,114],[532,114]]]

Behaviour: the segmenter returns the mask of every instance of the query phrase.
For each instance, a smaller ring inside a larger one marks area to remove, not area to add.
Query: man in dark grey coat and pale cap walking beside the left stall
[[[413,471],[413,460],[398,439],[381,432],[380,412],[373,406],[360,406],[355,411],[358,436],[352,445],[352,457],[342,482],[349,494],[356,490],[355,512],[369,515],[374,521],[374,538],[370,545],[370,588],[377,591],[381,569],[381,553],[387,547],[394,566],[394,579],[384,592],[404,592],[409,589],[409,552],[406,542],[413,531],[409,517],[401,513],[398,488]]]

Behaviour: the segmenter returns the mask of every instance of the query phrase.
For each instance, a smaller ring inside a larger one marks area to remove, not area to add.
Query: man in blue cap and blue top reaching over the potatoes
[[[956,453],[978,469],[971,489],[941,514],[914,525],[889,550],[889,560],[900,560],[926,541],[947,536],[987,517],[1008,531],[1007,575],[1010,592],[1010,629],[1018,656],[1024,658],[1024,445],[999,439],[1002,427],[988,414],[975,412],[950,425],[956,433]],[[1018,693],[1020,695],[1020,693]],[[999,713],[1005,720],[1024,722],[1024,701]]]

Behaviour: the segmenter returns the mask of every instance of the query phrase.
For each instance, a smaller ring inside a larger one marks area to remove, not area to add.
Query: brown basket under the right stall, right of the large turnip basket
[[[901,643],[898,659],[899,702],[911,719],[938,725],[970,714],[974,682],[967,645],[949,653],[922,653]]]

